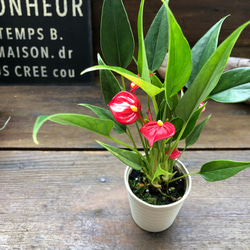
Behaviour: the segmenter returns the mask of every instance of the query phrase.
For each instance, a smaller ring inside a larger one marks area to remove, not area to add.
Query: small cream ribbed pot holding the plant
[[[188,170],[181,161],[178,160],[176,165],[183,174],[188,174]],[[151,205],[139,199],[131,191],[128,183],[131,171],[132,168],[126,168],[124,181],[128,193],[131,214],[135,223],[148,232],[161,232],[166,230],[173,224],[185,199],[190,193],[192,182],[190,175],[186,177],[186,192],[180,200],[168,205]]]

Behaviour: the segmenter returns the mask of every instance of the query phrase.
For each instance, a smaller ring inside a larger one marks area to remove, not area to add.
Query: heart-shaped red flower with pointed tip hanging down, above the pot
[[[172,137],[175,134],[175,126],[170,122],[149,121],[144,124],[141,133],[147,138],[150,147],[153,147],[155,141]]]

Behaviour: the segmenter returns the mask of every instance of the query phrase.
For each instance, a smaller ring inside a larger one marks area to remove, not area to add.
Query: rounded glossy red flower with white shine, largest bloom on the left
[[[121,91],[113,97],[109,108],[118,122],[128,125],[140,117],[141,103],[133,94]]]

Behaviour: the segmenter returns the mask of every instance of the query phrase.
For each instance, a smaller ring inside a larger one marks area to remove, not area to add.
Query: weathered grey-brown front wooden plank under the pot
[[[183,155],[190,172],[207,160],[250,161],[250,151]],[[248,249],[249,169],[191,194],[173,226],[147,233],[132,221],[125,166],[108,152],[0,151],[0,249]],[[106,182],[101,182],[100,178]]]

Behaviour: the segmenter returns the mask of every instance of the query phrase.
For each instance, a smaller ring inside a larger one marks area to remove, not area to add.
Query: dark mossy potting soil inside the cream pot
[[[182,176],[177,168],[174,178]],[[176,180],[162,187],[162,192],[167,193],[163,196],[155,187],[147,183],[145,175],[140,170],[132,170],[129,176],[129,186],[132,192],[141,200],[152,205],[167,205],[182,198],[186,191],[186,181],[184,178]]]

